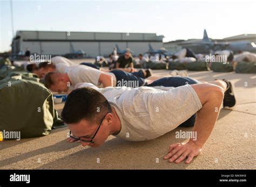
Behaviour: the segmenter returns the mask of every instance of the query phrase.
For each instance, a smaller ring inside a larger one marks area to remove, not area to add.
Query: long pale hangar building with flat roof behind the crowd
[[[134,53],[145,53],[149,44],[153,48],[163,47],[163,35],[156,33],[110,33],[110,32],[53,32],[17,31],[12,39],[12,53],[30,52],[37,54],[64,55],[82,49],[87,56],[107,56],[116,44],[121,50],[130,48]]]

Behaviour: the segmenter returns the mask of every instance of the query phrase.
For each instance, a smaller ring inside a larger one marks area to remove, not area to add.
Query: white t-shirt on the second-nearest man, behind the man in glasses
[[[84,66],[84,65],[73,65],[65,69],[65,73],[68,73],[71,84],[76,85],[78,83],[92,83],[97,85],[99,88],[103,88],[102,83],[99,83],[100,74],[108,74],[113,77],[113,86],[117,85],[116,76],[112,73],[100,71],[98,69]]]

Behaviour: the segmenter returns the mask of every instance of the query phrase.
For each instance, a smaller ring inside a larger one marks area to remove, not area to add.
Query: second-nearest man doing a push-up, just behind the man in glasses
[[[60,73],[58,71],[47,73],[44,76],[44,85],[46,88],[56,92],[67,92],[71,86],[84,82],[92,83],[99,88],[105,88],[121,86],[118,85],[118,83],[120,83],[121,80],[125,80],[134,81],[138,84],[138,87],[140,87],[147,84],[145,78],[146,77],[142,78],[122,70],[104,72],[83,65],[74,65],[66,68],[66,73]]]

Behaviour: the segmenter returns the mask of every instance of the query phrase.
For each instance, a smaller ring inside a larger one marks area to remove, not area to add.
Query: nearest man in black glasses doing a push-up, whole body
[[[148,87],[99,89],[92,84],[76,87],[62,111],[62,119],[70,129],[68,141],[99,147],[109,135],[143,141],[155,139],[181,124],[192,125],[197,139],[170,145],[164,157],[175,163],[186,157],[185,163],[190,163],[200,153],[222,103],[224,107],[235,105],[234,85],[226,80],[199,83],[188,77],[165,77]],[[190,123],[186,123],[188,120]]]

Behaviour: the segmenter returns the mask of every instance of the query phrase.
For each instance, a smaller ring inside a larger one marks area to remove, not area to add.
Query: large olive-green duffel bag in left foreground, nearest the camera
[[[48,135],[61,125],[52,93],[43,84],[11,77],[0,81],[0,131],[33,138]]]

